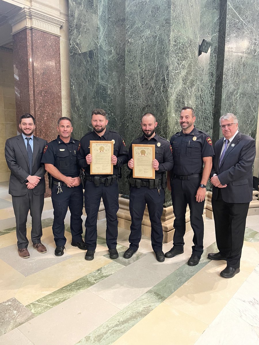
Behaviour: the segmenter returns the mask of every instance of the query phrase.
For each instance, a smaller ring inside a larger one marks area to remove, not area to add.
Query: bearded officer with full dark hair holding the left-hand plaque
[[[106,214],[106,244],[109,249],[110,258],[118,257],[117,237],[118,220],[118,168],[122,167],[128,161],[128,154],[122,137],[106,128],[108,124],[106,112],[103,109],[94,109],[91,120],[93,131],[88,132],[80,140],[80,149],[78,151],[78,163],[85,170],[85,243],[87,245],[86,260],[93,260],[97,241],[97,216],[101,198],[105,207]],[[90,140],[113,141],[113,155],[111,162],[113,164],[113,175],[90,175]]]

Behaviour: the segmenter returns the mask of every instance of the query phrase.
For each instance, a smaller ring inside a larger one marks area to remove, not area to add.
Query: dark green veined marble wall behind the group
[[[181,108],[190,105],[196,126],[214,139],[225,112],[255,137],[258,7],[257,0],[69,0],[75,136],[91,128],[92,109],[102,107],[108,128],[127,146],[142,134],[147,111],[157,117],[157,133],[170,139],[180,130]],[[202,39],[211,48],[198,57]],[[120,191],[128,194],[125,177]],[[167,193],[166,205],[170,200]]]

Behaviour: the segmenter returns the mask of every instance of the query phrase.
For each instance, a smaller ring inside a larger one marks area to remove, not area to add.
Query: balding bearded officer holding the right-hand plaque
[[[159,137],[156,132],[156,118],[151,113],[146,113],[141,119],[143,136],[131,143],[129,149],[128,167],[133,169],[132,144],[155,145],[155,179],[137,179],[132,176],[130,182],[130,214],[131,233],[129,237],[130,248],[124,253],[124,258],[129,259],[137,251],[141,240],[141,223],[147,205],[151,221],[151,244],[159,262],[165,260],[162,251],[163,229],[161,216],[165,198],[165,171],[173,168],[173,155],[167,140]],[[131,171],[132,172],[132,171]]]

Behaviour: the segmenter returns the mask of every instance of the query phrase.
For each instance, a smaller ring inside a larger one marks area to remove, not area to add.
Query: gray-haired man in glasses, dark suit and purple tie
[[[208,254],[208,258],[226,260],[227,267],[220,275],[232,278],[240,272],[246,217],[252,200],[256,142],[240,133],[233,114],[221,116],[220,127],[224,137],[215,143],[211,170],[211,203],[219,252]]]

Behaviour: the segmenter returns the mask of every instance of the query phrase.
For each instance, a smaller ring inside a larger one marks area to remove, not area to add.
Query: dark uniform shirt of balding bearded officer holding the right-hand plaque
[[[132,158],[132,144],[155,145],[155,159],[159,162],[159,170],[155,170],[155,178],[161,179],[162,172],[171,170],[174,165],[174,159],[169,142],[159,137],[157,134],[148,140],[144,134],[142,137],[132,141],[128,150],[128,160]],[[146,179],[143,179],[145,181]]]

